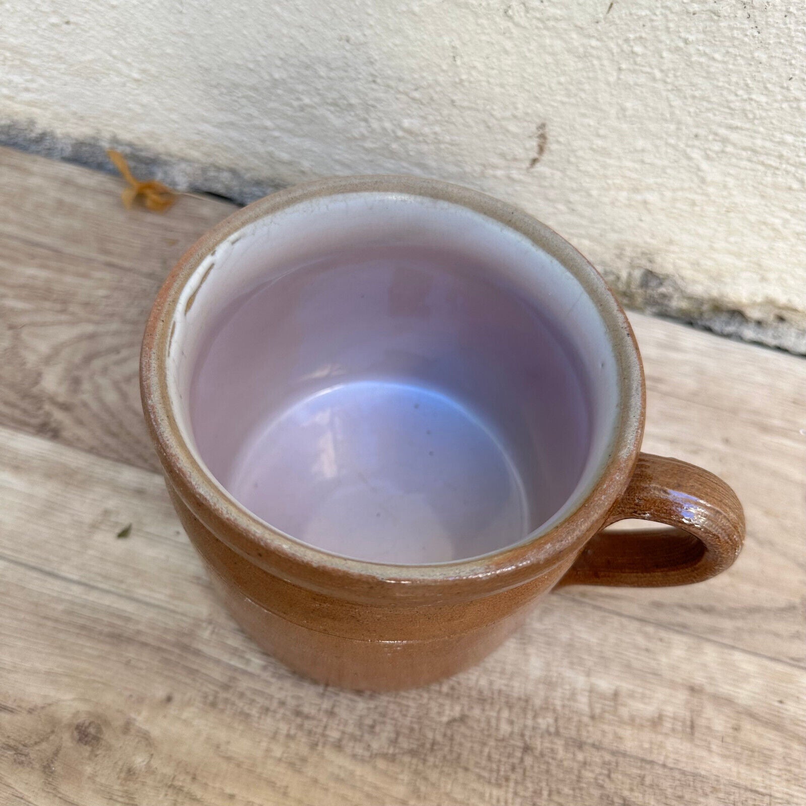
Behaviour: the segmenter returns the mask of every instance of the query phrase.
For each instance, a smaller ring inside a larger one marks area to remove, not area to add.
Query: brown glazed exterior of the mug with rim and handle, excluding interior
[[[172,315],[193,271],[245,224],[305,198],[367,190],[462,204],[521,231],[572,272],[596,302],[620,367],[620,424],[609,462],[586,500],[550,531],[485,557],[393,566],[329,555],[297,542],[222,492],[185,444],[168,401]],[[389,690],[472,666],[558,584],[669,585],[708,579],[733,563],[744,518],[716,476],[641,455],[644,386],[621,307],[590,264],[546,226],[475,191],[413,177],[345,177],[301,185],[239,210],[181,258],[143,339],[143,409],[177,513],[235,618],[264,649],[323,683]],[[676,531],[599,534],[626,517]]]

